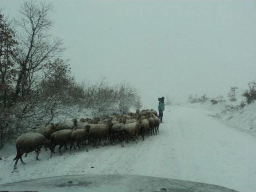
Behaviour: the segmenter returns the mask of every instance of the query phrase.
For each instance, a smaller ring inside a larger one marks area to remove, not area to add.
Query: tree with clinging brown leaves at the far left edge
[[[0,9],[0,149],[4,143],[4,132],[9,124],[10,96],[16,76],[14,70],[17,42],[11,22],[8,22]]]

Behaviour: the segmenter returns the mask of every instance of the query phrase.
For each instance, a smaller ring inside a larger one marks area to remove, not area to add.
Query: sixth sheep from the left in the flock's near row
[[[142,120],[139,120],[138,122],[128,123],[124,124],[121,128],[121,130],[124,132],[123,138],[122,138],[122,146],[124,146],[124,139],[126,137],[126,140],[128,142],[128,139],[130,137],[135,136],[135,142],[138,143],[138,134],[140,132],[140,126],[142,124]]]

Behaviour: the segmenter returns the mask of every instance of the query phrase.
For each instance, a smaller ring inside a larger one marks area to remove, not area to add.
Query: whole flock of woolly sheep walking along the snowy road
[[[157,112],[151,110],[136,110],[136,113],[128,113],[124,115],[110,115],[102,118],[81,118],[79,121],[73,119],[70,122],[62,122],[59,124],[48,124],[39,126],[34,131],[20,135],[16,140],[17,155],[14,169],[17,168],[17,162],[20,159],[22,164],[22,155],[25,157],[29,152],[36,152],[36,160],[42,146],[49,148],[50,157],[54,153],[54,149],[59,145],[61,154],[62,146],[67,150],[70,144],[70,152],[72,148],[76,149],[80,146],[88,146],[92,144],[98,148],[110,143],[114,146],[116,142],[120,142],[124,146],[124,141],[134,140],[137,143],[138,135],[149,135],[159,132],[160,120]],[[75,145],[76,144],[76,145]]]

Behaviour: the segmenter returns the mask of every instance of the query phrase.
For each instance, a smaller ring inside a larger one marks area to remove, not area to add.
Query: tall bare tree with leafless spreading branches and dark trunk
[[[52,40],[49,33],[52,27],[50,13],[51,3],[26,1],[20,6],[21,17],[18,26],[21,28],[18,41],[19,72],[15,93],[26,96],[35,81],[35,72],[44,68],[49,61],[64,50],[62,40]]]

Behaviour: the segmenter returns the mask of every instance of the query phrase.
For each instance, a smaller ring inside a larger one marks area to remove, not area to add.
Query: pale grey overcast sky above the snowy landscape
[[[22,1],[0,0],[18,16]],[[54,0],[52,33],[78,81],[130,82],[145,106],[226,96],[256,78],[256,1]]]

